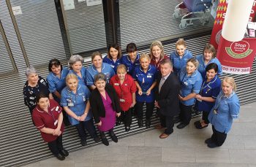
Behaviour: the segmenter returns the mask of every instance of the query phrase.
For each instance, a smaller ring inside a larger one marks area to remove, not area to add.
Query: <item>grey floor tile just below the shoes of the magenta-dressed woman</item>
[[[127,160],[127,146],[98,145],[94,147],[93,160]]]

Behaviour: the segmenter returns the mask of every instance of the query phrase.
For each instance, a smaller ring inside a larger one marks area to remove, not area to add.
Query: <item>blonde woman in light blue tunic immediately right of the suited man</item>
[[[197,71],[198,61],[195,58],[190,58],[187,61],[187,66],[181,69],[178,76],[181,82],[181,93],[178,96],[180,100],[180,120],[177,125],[178,129],[189,125],[191,120],[192,106],[195,104],[195,96],[200,92],[203,82],[201,74]]]

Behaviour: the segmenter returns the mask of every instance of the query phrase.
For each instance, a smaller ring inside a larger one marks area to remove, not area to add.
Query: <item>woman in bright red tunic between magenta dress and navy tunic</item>
[[[135,92],[137,90],[135,81],[127,74],[127,67],[120,64],[117,67],[116,75],[110,79],[110,85],[113,85],[121,106],[120,120],[124,121],[125,131],[129,131],[132,124],[131,108],[135,106]]]

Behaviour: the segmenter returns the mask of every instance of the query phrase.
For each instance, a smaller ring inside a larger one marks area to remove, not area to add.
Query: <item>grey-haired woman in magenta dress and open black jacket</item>
[[[106,81],[107,77],[105,74],[99,73],[94,76],[96,88],[91,92],[90,104],[102,143],[108,146],[108,139],[105,136],[106,131],[108,131],[114,142],[118,141],[113,132],[113,127],[116,123],[116,116],[119,117],[121,114],[121,108],[116,90],[112,85],[106,84]]]

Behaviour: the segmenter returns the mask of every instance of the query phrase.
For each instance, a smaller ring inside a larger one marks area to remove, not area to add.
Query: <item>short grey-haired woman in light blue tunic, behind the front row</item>
[[[78,77],[80,85],[86,85],[86,68],[83,67],[83,58],[80,55],[72,55],[69,58],[69,74],[75,74]]]

